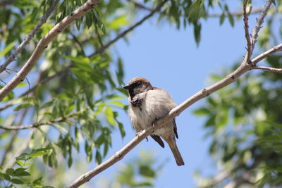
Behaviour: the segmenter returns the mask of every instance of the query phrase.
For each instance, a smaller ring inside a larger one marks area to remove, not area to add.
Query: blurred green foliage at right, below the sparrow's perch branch
[[[271,66],[279,66],[281,61],[282,55],[267,58]],[[245,75],[213,94],[205,106],[194,111],[207,117],[204,128],[207,137],[212,138],[209,153],[226,173],[212,186],[231,182],[235,187],[282,184],[281,81],[276,73]]]

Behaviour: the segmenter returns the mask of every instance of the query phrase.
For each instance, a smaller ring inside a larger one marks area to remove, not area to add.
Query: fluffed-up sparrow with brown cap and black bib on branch
[[[137,133],[154,125],[154,122],[164,117],[176,106],[168,92],[164,89],[152,87],[149,80],[144,77],[134,77],[123,88],[128,89],[128,101],[130,104],[128,115]],[[184,165],[183,158],[176,145],[178,133],[175,119],[161,125],[150,136],[163,148],[164,142],[162,139],[164,139],[171,148],[176,164]]]

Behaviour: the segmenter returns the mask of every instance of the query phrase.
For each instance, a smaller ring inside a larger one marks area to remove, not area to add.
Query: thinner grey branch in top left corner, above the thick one
[[[30,34],[27,35],[27,38],[23,40],[23,42],[18,46],[16,51],[14,51],[8,58],[6,59],[5,63],[0,65],[0,73],[2,73],[5,68],[10,64],[12,61],[16,60],[16,56],[20,54],[21,51],[23,51],[23,48],[30,43],[30,40],[35,36],[35,34],[40,30],[42,25],[46,23],[47,19],[51,15],[52,11],[56,8],[56,5],[58,4],[59,0],[54,0],[51,6],[48,8],[48,10],[42,15],[42,17],[39,20],[39,23],[32,29]]]

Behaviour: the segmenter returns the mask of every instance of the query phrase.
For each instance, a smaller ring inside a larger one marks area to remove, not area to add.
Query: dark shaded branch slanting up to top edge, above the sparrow
[[[102,46],[100,49],[98,49],[97,51],[95,51],[93,54],[90,55],[90,57],[95,56],[97,54],[102,54],[102,52],[107,49],[109,46],[111,46],[111,44],[114,44],[118,39],[124,37],[126,34],[128,34],[128,32],[132,31],[135,27],[137,27],[138,25],[141,25],[142,23],[145,22],[145,20],[147,20],[148,18],[152,17],[152,15],[154,15],[154,13],[156,13],[157,11],[159,11],[161,9],[162,6],[164,6],[164,4],[166,3],[167,0],[162,1],[156,8],[154,8],[148,15],[146,15],[144,18],[142,18],[140,21],[138,21],[137,23],[135,23],[135,25],[129,27],[127,30],[121,32],[115,39],[111,40],[110,42],[108,42],[107,44],[105,44],[104,46]]]

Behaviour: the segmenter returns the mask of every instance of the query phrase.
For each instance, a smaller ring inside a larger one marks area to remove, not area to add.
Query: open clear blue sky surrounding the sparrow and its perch
[[[195,92],[207,87],[210,84],[210,74],[221,73],[223,68],[230,68],[234,63],[243,60],[245,33],[241,20],[236,21],[235,27],[231,27],[227,19],[222,26],[219,25],[218,18],[202,20],[202,39],[198,47],[193,38],[192,27],[176,30],[168,23],[156,26],[156,20],[154,17],[131,32],[128,35],[129,44],[121,40],[112,49],[123,58],[125,82],[135,76],[146,77],[153,86],[166,89],[176,104],[180,104]],[[252,23],[251,20],[250,22]],[[127,103],[127,100],[124,102]],[[192,114],[193,109],[202,104],[204,101],[198,101],[176,118],[179,135],[177,144],[185,161],[183,167],[176,165],[167,145],[162,149],[149,139],[149,142],[143,141],[136,146],[123,161],[98,175],[96,180],[99,182],[99,179],[106,179],[122,163],[137,156],[140,150],[153,151],[160,161],[168,159],[157,179],[156,187],[195,187],[195,170],[200,170],[203,175],[212,175],[216,172],[216,164],[208,154],[210,142],[209,139],[204,139],[204,119]],[[121,113],[119,119],[125,126],[126,137],[121,140],[116,132],[109,156],[135,136],[128,115]]]

